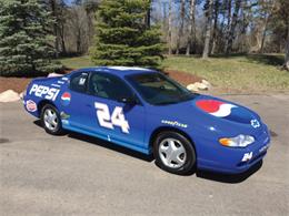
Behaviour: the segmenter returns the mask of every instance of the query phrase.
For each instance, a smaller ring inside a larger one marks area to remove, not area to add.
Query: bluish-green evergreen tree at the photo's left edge
[[[33,75],[61,65],[50,29],[53,19],[41,0],[0,1],[0,74]]]

